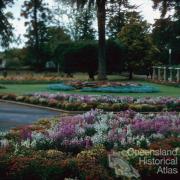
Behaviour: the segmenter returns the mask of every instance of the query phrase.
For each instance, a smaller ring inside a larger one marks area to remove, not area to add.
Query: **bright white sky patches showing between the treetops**
[[[46,0],[46,2],[50,5],[50,7],[53,6],[53,0]],[[20,17],[21,12],[21,5],[23,1],[18,0],[15,2],[12,8],[9,9],[14,15],[14,20],[11,21],[13,26],[15,27],[14,33],[16,36],[21,36],[22,43],[19,46],[23,46],[23,42],[25,41],[25,38],[23,37],[23,34],[26,32],[26,28],[24,26],[24,18]],[[152,6],[153,3],[151,0],[130,0],[130,3],[135,4],[138,6],[138,11],[141,12],[141,15],[144,17],[145,20],[147,20],[149,23],[153,23],[154,19],[158,19],[160,17],[160,13],[158,10],[153,10]]]

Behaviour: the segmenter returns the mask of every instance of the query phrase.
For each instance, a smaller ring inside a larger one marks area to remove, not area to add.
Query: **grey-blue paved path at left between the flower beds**
[[[38,119],[58,114],[55,111],[0,102],[0,131],[31,124]]]

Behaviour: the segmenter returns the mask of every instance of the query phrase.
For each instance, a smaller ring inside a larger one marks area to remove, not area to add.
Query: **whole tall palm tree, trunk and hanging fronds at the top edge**
[[[76,4],[79,9],[85,6],[92,7],[96,5],[98,22],[98,79],[105,80],[106,77],[106,58],[105,58],[105,20],[106,4],[108,0],[59,0]],[[121,3],[127,3],[128,0],[117,0]],[[115,1],[111,1],[114,3]]]

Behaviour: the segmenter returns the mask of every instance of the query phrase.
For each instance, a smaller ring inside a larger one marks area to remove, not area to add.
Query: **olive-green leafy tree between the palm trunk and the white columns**
[[[136,68],[145,66],[145,64],[151,65],[151,57],[158,50],[150,37],[149,25],[138,13],[130,18],[118,37],[126,46],[125,65],[129,71],[129,79],[132,79]]]

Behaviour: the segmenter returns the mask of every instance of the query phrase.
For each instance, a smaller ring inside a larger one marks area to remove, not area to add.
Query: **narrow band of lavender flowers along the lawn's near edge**
[[[122,104],[151,104],[151,105],[167,105],[171,103],[180,103],[180,97],[143,97],[133,98],[129,96],[113,96],[113,95],[78,95],[78,94],[62,94],[62,93],[34,93],[31,96],[36,98],[45,98],[47,100],[63,100],[68,102],[81,103],[122,103]]]

